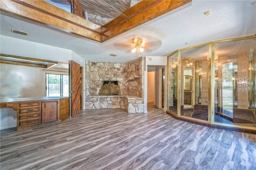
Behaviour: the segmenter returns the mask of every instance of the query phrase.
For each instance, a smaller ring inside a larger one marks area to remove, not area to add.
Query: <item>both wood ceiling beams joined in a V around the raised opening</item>
[[[192,0],[142,0],[100,27],[43,0],[1,0],[0,10],[38,21],[98,42],[104,42]]]

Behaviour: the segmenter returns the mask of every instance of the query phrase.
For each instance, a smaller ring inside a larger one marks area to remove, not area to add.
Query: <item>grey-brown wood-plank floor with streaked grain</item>
[[[148,106],[84,110],[57,125],[1,131],[1,170],[256,170],[256,135]]]

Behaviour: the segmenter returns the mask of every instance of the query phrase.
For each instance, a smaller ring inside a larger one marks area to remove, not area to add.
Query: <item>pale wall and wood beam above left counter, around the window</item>
[[[0,98],[44,97],[46,71],[67,76],[69,73],[68,63],[6,54],[1,54],[0,67]]]

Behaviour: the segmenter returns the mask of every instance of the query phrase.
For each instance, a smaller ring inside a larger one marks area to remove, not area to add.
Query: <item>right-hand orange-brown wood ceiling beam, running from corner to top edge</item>
[[[192,0],[142,0],[101,27],[101,42],[107,41],[158,16],[166,14]]]

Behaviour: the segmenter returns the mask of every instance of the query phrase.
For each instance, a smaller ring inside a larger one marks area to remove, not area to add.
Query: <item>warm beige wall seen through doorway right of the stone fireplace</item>
[[[155,98],[155,72],[148,72],[148,103],[154,102]]]

